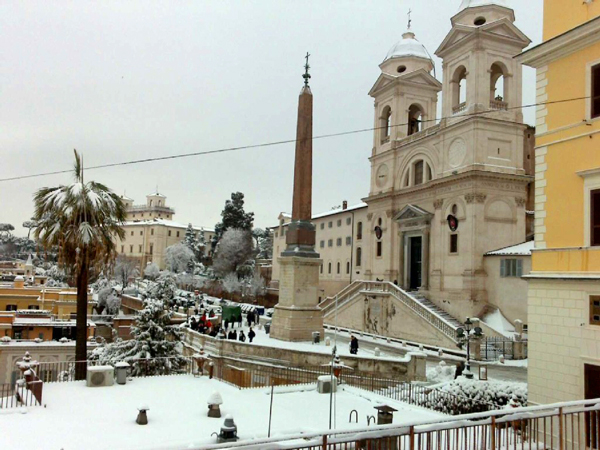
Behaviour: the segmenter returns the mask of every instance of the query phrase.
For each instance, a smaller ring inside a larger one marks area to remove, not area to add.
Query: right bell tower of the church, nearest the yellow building
[[[444,117],[483,111],[523,122],[522,67],[515,55],[531,41],[514,24],[505,0],[463,0],[452,29],[435,52],[444,60]]]

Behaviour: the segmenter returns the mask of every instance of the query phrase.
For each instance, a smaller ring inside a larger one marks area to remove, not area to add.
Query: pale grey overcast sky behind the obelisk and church
[[[406,29],[430,53],[461,0],[9,1],[0,3],[0,178],[293,139],[304,55],[314,134],[373,126],[368,91]],[[541,40],[543,0],[508,0]],[[441,78],[441,62],[436,59]],[[535,101],[525,68],[524,103]],[[534,120],[532,109],[526,120]],[[368,195],[372,133],[316,140],[313,212]],[[90,171],[136,203],[158,189],[180,222],[212,228],[231,192],[255,225],[291,210],[294,144]],[[0,183],[0,222],[26,235],[53,175]]]

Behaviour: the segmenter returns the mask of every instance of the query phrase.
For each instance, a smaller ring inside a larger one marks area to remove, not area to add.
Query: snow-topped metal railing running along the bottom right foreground
[[[196,447],[201,450],[600,449],[600,399],[467,414],[347,431]]]

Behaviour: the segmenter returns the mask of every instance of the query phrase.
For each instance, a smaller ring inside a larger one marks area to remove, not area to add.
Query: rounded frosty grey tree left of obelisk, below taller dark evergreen
[[[228,273],[241,274],[240,269],[252,259],[254,250],[252,246],[252,235],[249,231],[232,228],[223,234],[223,238],[217,247],[217,256],[213,263],[215,273],[224,277]]]

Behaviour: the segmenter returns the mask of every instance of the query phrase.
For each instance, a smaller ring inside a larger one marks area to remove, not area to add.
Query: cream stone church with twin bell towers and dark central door
[[[502,275],[487,273],[486,253],[533,234],[535,131],[523,123],[522,67],[514,59],[530,40],[514,22],[503,0],[464,0],[435,52],[442,81],[409,29],[369,92],[370,191],[361,240],[347,259],[360,251],[361,279],[418,291],[463,320],[485,313],[489,277]]]

